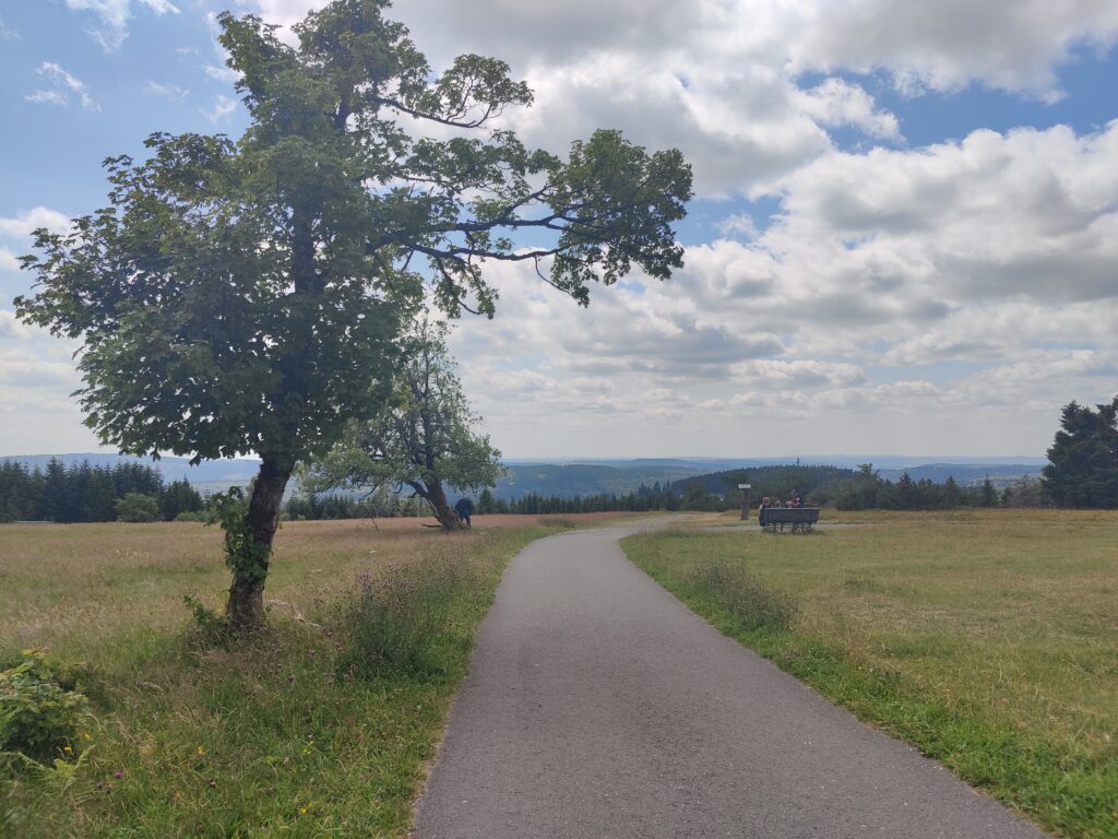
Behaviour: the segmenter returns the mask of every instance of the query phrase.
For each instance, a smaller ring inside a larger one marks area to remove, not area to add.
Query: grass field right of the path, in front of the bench
[[[723,632],[1043,828],[1118,836],[1118,515],[841,517],[866,526],[623,545]]]

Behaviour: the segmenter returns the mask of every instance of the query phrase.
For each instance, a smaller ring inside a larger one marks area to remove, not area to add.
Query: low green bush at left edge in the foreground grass
[[[41,650],[0,671],[0,751],[37,761],[76,751],[82,727],[91,720],[89,701]]]

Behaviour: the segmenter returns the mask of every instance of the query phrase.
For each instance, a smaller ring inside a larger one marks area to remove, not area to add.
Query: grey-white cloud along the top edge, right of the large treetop
[[[310,0],[257,4],[290,26]],[[536,91],[532,109],[508,115],[529,142],[562,152],[595,128],[623,129],[650,148],[682,149],[699,194],[714,197],[752,194],[827,154],[835,129],[902,142],[897,115],[835,74],[884,73],[910,93],[978,82],[1051,97],[1054,68],[1073,49],[1107,48],[1118,36],[1118,7],[1093,0],[980,9],[964,0],[399,0],[388,13],[436,68],[459,51],[509,60]],[[800,82],[821,72],[830,75]]]

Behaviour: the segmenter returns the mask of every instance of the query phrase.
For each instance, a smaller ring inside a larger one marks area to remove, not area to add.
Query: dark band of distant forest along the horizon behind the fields
[[[738,509],[738,484],[751,484],[754,507],[765,496],[787,499],[793,491],[809,505],[840,510],[942,510],[957,507],[1041,507],[1048,502],[1041,484],[1020,478],[998,488],[989,479],[960,487],[954,479],[936,483],[882,478],[871,464],[859,470],[841,466],[777,465],[735,469],[641,484],[629,492],[595,492],[577,497],[527,492],[504,499],[484,490],[474,498],[476,512],[551,515],[653,510],[721,511]],[[164,483],[158,470],[135,462],[114,466],[88,462],[67,466],[51,460],[46,469],[0,461],[0,522],[6,521],[154,521],[202,519],[207,500],[186,480]],[[387,490],[369,498],[345,494],[294,496],[284,517],[302,519],[394,518],[427,516],[418,499]]]

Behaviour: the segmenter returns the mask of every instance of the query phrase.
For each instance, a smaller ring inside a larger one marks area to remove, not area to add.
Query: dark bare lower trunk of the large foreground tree
[[[292,466],[276,458],[263,456],[245,513],[243,539],[237,555],[229,557],[233,585],[229,587],[228,616],[229,622],[241,631],[256,629],[264,621],[264,581],[291,473]]]

